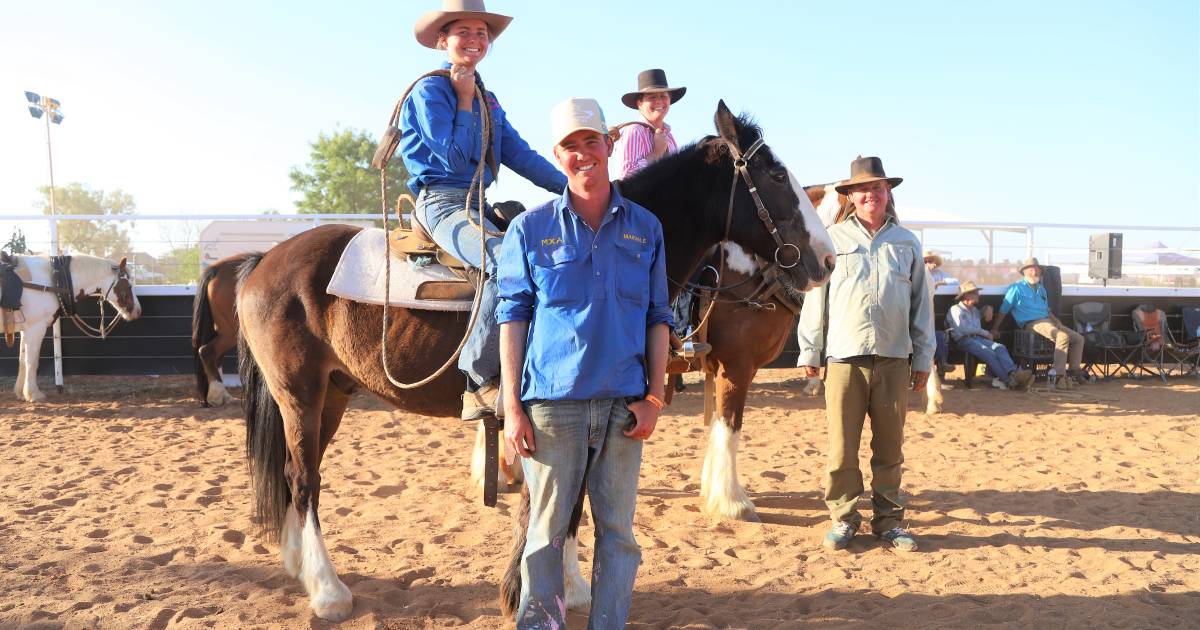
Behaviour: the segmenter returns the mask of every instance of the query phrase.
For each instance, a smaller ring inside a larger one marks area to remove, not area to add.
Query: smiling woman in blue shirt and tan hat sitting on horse
[[[485,95],[482,106],[491,114],[492,133],[487,139],[484,186],[496,180],[504,164],[518,175],[556,194],[566,186],[566,178],[546,158],[529,149],[496,95],[484,89],[476,66],[488,47],[512,18],[488,13],[482,0],[446,0],[443,11],[432,11],[416,23],[416,41],[428,48],[445,50],[450,77],[426,77],[413,86],[401,107],[400,154],[408,168],[408,187],[416,193],[414,218],[425,227],[443,250],[468,265],[484,265],[480,247],[482,224],[498,233],[488,217],[478,216],[476,198],[467,209],[467,188],[482,154],[481,104],[475,86]],[[496,324],[496,263],[500,238],[487,239],[487,271],[480,296],[479,316],[467,344],[458,356],[458,367],[467,374],[462,419],[475,420],[494,413],[500,376],[499,334]]]

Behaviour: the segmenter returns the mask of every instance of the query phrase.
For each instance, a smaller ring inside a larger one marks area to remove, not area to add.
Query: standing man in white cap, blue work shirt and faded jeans
[[[566,626],[563,542],[587,484],[596,533],[589,626],[623,628],[641,563],[642,440],[662,409],[671,326],[662,226],[610,184],[599,103],[571,98],[551,121],[566,191],[512,222],[498,277],[504,442],[522,457],[529,490],[516,620]]]

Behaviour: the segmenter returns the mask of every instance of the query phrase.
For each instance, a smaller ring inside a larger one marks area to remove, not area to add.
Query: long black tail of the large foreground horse
[[[252,256],[238,269],[239,292],[241,282],[262,258],[262,254]],[[292,500],[283,476],[287,462],[283,415],[250,352],[244,329],[238,331],[238,374],[241,377],[241,404],[246,415],[246,460],[254,487],[254,520],[268,540],[277,540],[283,528],[283,514]]]

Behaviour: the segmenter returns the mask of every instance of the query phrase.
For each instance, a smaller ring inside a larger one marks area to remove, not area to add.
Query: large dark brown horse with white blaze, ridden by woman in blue
[[[780,274],[790,290],[823,282],[833,252],[815,252],[812,242],[828,242],[828,235],[820,222],[802,216],[787,170],[761,143],[760,128],[734,118],[725,103],[718,106],[715,124],[718,136],[624,182],[624,193],[662,223],[667,275],[682,282],[727,235],[790,265]],[[756,188],[736,179],[738,167]],[[778,232],[767,229],[768,223]],[[300,580],[313,611],[325,619],[344,619],[353,608],[317,518],[320,460],[350,394],[362,388],[410,413],[455,416],[463,386],[457,373],[415,390],[392,386],[380,370],[383,307],[325,293],[356,232],[323,226],[251,257],[238,290],[239,371],[256,512],[266,534],[280,540],[284,570]],[[810,241],[810,235],[820,238]],[[396,308],[386,331],[396,349],[389,370],[407,380],[427,376],[454,352],[466,325],[463,313]]]

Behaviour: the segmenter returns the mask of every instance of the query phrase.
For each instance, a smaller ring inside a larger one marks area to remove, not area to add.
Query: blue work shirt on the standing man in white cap
[[[613,187],[593,232],[564,192],[512,221],[497,268],[497,322],[529,322],[522,401],[646,394],[646,331],[672,325],[649,210]]]

